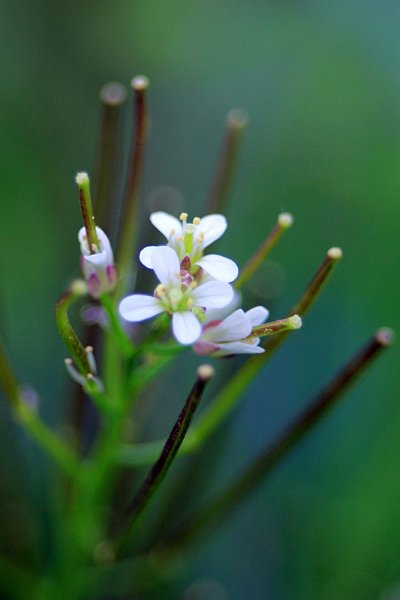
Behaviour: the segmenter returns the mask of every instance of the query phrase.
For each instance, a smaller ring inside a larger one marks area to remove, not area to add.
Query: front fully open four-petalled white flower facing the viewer
[[[197,286],[193,277],[181,270],[176,253],[168,246],[154,247],[151,268],[160,281],[154,296],[127,296],[119,305],[121,316],[136,322],[167,312],[172,314],[172,330],[178,342],[193,344],[201,334],[199,321],[205,310],[229,304],[232,287],[221,281]]]

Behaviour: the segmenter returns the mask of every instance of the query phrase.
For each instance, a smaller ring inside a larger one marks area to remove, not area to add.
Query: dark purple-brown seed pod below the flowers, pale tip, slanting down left
[[[150,499],[160,486],[162,480],[167,474],[172,462],[185,438],[186,432],[192,421],[194,413],[200,403],[204,388],[210,380],[214,370],[209,365],[202,365],[198,368],[197,378],[185,402],[179,417],[169,434],[167,441],[161,451],[158,460],[151,467],[139,491],[135,494],[129,503],[121,518],[119,534],[114,542],[115,554],[120,553],[132,538],[135,531],[135,525],[139,516],[148,505]]]

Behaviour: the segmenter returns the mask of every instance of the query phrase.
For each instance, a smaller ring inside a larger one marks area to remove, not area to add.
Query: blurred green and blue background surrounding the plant
[[[79,273],[73,176],[93,168],[98,92],[110,80],[149,76],[143,198],[173,186],[191,216],[207,194],[227,111],[248,111],[219,248],[243,264],[279,212],[294,214],[252,282],[273,318],[330,246],[344,250],[302,331],[236,411],[221,476],[273,439],[375,328],[400,331],[399,17],[389,0],[1,3],[2,330],[50,423],[67,410],[53,304]],[[193,551],[163,597],[400,597],[399,388],[395,347]],[[3,546],[23,552],[21,539],[48,527],[46,465],[4,403],[0,413]],[[19,537],[6,527],[16,510]]]

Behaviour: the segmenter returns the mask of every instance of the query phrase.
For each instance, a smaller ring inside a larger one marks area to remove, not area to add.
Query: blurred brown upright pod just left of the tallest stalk
[[[126,88],[120,83],[107,83],[100,90],[102,115],[96,168],[95,206],[97,222],[106,231],[112,230],[111,211],[116,211],[120,120],[126,97]]]

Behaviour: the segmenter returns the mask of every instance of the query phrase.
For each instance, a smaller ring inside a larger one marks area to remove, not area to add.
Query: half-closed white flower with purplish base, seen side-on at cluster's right
[[[211,321],[204,326],[193,350],[196,354],[212,356],[260,354],[264,352],[264,348],[258,346],[260,338],[249,336],[253,327],[264,323],[268,315],[266,308],[256,306],[247,312],[239,308],[223,321]]]

